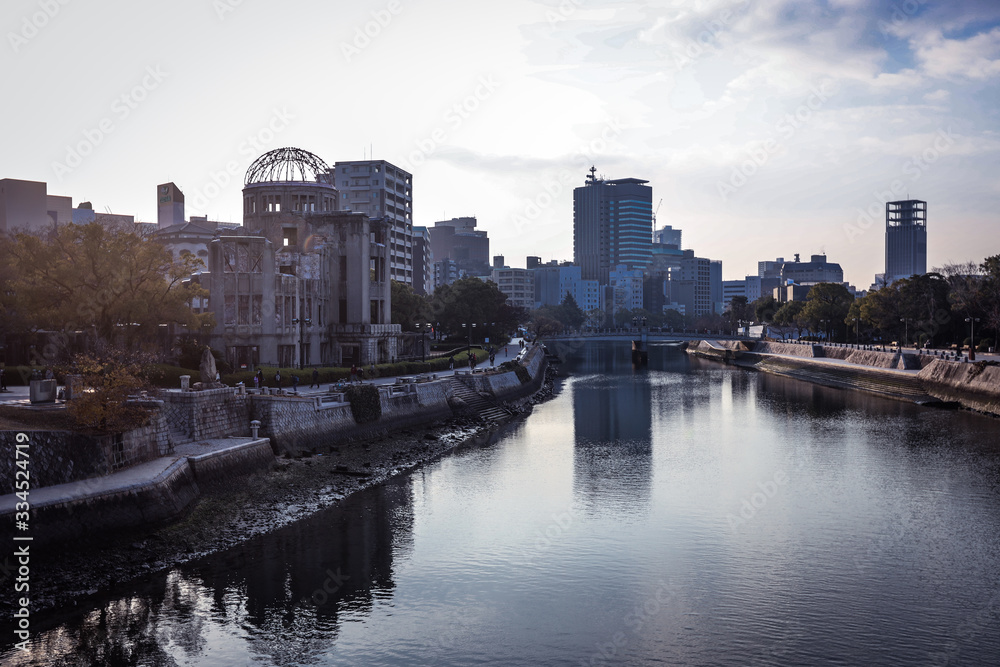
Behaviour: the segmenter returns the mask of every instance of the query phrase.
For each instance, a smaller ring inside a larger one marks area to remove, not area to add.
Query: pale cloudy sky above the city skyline
[[[928,202],[928,268],[1000,253],[1000,2],[6,0],[0,178],[155,222],[241,220],[295,146],[413,174],[414,224],[573,258],[591,165],[723,262],[826,253],[867,288],[884,202]],[[662,202],[661,202],[662,200]]]

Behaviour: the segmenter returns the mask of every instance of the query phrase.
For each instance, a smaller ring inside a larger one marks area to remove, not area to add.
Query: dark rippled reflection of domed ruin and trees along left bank
[[[409,477],[393,479],[157,575],[128,597],[38,635],[35,650],[17,664],[174,665],[204,657],[208,628],[219,627],[230,629],[226,643],[238,653],[308,662],[334,645],[343,615],[367,614],[391,596],[393,558],[412,549],[410,487]]]

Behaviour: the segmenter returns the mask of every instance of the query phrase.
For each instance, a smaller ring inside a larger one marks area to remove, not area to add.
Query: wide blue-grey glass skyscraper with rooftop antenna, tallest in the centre
[[[591,167],[583,187],[573,190],[573,258],[584,280],[607,285],[611,270],[645,270],[653,244],[653,189],[649,181],[606,181]]]

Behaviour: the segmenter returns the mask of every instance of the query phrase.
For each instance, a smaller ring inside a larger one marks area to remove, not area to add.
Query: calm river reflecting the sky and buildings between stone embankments
[[[996,665],[1000,420],[653,347],[5,664]]]

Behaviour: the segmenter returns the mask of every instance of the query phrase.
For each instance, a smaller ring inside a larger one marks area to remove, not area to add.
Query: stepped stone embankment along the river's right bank
[[[689,354],[838,389],[1000,416],[1000,364],[849,345],[701,340]]]

